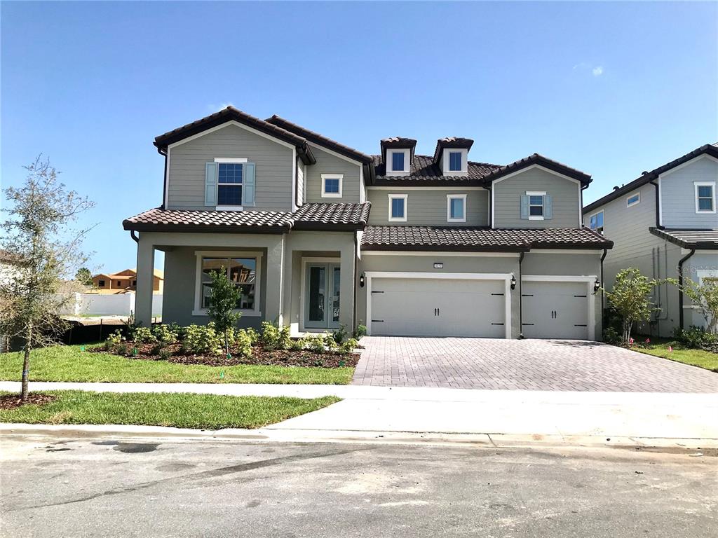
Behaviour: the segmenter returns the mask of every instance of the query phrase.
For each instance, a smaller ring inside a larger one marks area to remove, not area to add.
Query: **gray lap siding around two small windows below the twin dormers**
[[[389,222],[389,194],[408,194],[406,222]],[[447,194],[466,194],[466,222],[447,221]],[[369,222],[372,225],[398,226],[488,226],[488,191],[486,189],[370,189]]]

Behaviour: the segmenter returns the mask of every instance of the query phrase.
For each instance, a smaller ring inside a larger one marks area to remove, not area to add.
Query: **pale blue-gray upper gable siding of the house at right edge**
[[[709,156],[661,175],[663,226],[666,228],[718,228],[718,213],[696,213],[694,181],[717,181],[718,162]]]

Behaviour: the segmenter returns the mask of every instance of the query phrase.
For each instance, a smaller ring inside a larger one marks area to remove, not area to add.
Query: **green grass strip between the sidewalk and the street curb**
[[[0,410],[0,422],[28,424],[134,424],[218,430],[261,428],[338,402],[325,396],[289,397],[161,394],[157,392],[44,392],[57,400]],[[1,394],[7,394],[3,392]]]

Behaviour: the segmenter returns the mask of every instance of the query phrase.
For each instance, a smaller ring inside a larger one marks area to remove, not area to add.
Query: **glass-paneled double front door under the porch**
[[[340,268],[338,263],[308,263],[304,298],[305,329],[339,327]]]

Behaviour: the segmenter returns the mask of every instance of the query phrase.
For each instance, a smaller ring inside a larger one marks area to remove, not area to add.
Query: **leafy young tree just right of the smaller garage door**
[[[612,291],[605,291],[609,307],[622,319],[623,342],[628,344],[633,324],[646,321],[658,310],[651,302],[653,288],[666,280],[648,278],[634,267],[616,275]]]

